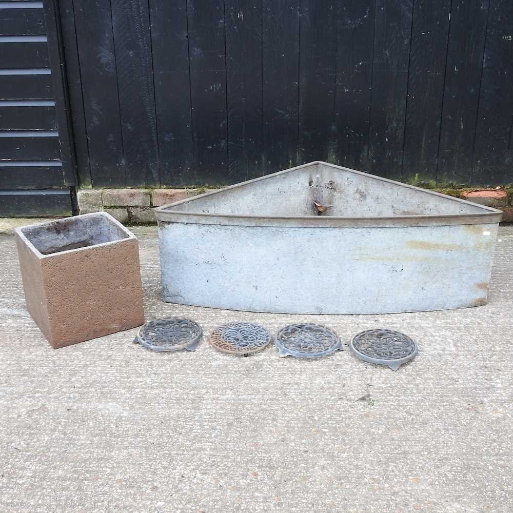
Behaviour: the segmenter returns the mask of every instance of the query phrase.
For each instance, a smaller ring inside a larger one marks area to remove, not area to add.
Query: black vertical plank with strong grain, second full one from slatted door
[[[147,0],[111,0],[127,185],[159,185]]]

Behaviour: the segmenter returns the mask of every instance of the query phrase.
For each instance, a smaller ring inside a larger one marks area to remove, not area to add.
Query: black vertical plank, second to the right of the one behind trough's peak
[[[412,0],[377,0],[369,156],[372,172],[401,180]]]

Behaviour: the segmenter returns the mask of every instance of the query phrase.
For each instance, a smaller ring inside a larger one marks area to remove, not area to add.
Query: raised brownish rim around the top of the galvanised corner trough
[[[323,215],[301,215],[301,216],[286,216],[286,215],[247,215],[247,214],[218,214],[218,213],[204,213],[204,212],[188,212],[172,210],[173,207],[184,203],[189,203],[196,200],[201,200],[206,196],[214,194],[222,194],[225,191],[237,189],[248,184],[256,183],[261,180],[266,180],[272,176],[279,176],[285,173],[290,173],[309,167],[312,165],[323,165],[334,169],[363,175],[370,177],[374,180],[380,180],[389,184],[399,185],[408,189],[413,189],[424,194],[432,194],[443,198],[445,201],[454,201],[477,207],[482,212],[464,213],[464,214],[415,214],[415,215],[394,215],[394,216],[369,216],[369,217],[343,217],[343,216],[323,216]],[[292,167],[276,173],[259,176],[258,178],[247,180],[238,184],[230,185],[224,189],[206,192],[186,198],[184,200],[168,203],[153,209],[155,217],[159,225],[161,223],[194,223],[194,224],[214,224],[214,225],[228,225],[228,226],[277,226],[277,227],[317,227],[317,228],[380,228],[380,227],[410,227],[410,226],[447,226],[447,225],[470,225],[470,224],[493,224],[499,223],[502,219],[503,212],[497,208],[487,207],[471,201],[462,200],[442,194],[440,192],[423,189],[415,185],[403,184],[395,180],[389,180],[382,176],[376,176],[370,173],[357,171],[329,162],[313,161],[301,166]]]

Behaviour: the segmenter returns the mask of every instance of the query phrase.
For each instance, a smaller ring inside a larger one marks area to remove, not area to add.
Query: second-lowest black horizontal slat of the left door
[[[11,165],[9,166],[9,164]],[[0,189],[64,187],[62,166],[34,166],[28,164],[32,163],[1,162]]]

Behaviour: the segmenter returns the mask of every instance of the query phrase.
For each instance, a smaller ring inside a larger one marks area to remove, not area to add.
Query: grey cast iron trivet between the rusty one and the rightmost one
[[[289,324],[278,332],[274,345],[281,357],[319,358],[345,349],[337,333],[321,324]]]

